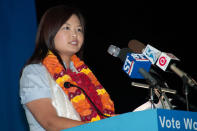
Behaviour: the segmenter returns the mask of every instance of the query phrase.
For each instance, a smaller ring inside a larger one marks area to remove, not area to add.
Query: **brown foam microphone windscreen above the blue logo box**
[[[146,46],[138,40],[130,40],[128,47],[133,51],[133,53],[141,54]]]

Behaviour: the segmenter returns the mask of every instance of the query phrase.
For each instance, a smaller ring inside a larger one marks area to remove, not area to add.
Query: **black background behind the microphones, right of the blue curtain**
[[[116,113],[132,111],[149,99],[149,90],[132,87],[132,80],[123,71],[121,62],[107,53],[110,44],[120,48],[137,39],[163,52],[171,52],[181,62],[180,69],[197,80],[195,62],[194,8],[193,3],[180,1],[73,1],[36,0],[37,21],[46,9],[66,4],[78,7],[86,19],[84,61],[95,73],[115,103]],[[173,98],[175,109],[186,110],[182,80],[173,73],[158,70],[158,73],[177,90],[179,97]],[[191,111],[197,111],[197,90],[189,88]],[[181,97],[180,97],[181,96]]]

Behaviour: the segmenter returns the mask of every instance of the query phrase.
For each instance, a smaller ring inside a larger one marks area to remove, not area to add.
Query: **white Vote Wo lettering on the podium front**
[[[173,129],[180,129],[181,128],[181,120],[175,120],[173,117],[172,119],[166,119],[165,116],[161,117],[159,116],[159,121],[162,128],[173,128]],[[183,118],[184,125],[182,127],[185,127],[185,130],[197,130],[197,122],[193,121],[189,118]]]

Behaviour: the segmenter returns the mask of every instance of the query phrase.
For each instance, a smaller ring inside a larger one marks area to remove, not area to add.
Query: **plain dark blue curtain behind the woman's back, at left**
[[[34,49],[34,0],[0,0],[0,130],[27,131],[19,99],[19,74]]]

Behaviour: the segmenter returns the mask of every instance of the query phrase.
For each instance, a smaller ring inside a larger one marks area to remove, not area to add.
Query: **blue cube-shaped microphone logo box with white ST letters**
[[[151,62],[143,54],[128,53],[122,69],[130,78],[144,79],[139,73],[139,68],[143,68],[148,72],[150,66]]]

